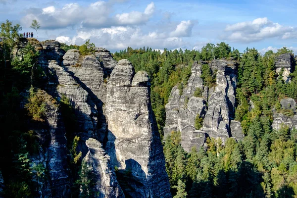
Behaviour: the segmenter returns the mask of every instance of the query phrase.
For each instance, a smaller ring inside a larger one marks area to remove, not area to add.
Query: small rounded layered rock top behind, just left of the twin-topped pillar
[[[105,48],[96,48],[95,56],[99,59],[102,66],[105,68],[106,75],[109,76],[116,66],[117,61],[113,59],[110,51]]]

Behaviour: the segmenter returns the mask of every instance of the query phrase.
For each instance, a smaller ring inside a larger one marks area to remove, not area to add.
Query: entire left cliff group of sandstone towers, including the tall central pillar
[[[25,47],[28,40],[24,42],[18,49]],[[38,62],[46,73],[42,92],[54,101],[46,106],[45,123],[30,125],[42,145],[37,154],[30,156],[31,165],[42,165],[48,173],[43,180],[32,178],[38,186],[38,197],[70,196],[74,178],[69,175],[65,124],[56,103],[65,98],[75,114],[75,127],[70,135],[67,130],[67,138],[80,137],[77,151],[82,151],[86,164],[82,171],[93,173],[90,179],[98,198],[171,197],[150,104],[148,74],[135,74],[128,60],[117,63],[103,48],[86,56],[76,49],[65,53],[56,41],[38,42],[35,48],[40,51]],[[21,50],[15,51],[16,56],[19,53]],[[119,167],[117,172],[115,166]],[[0,177],[0,189],[1,181]]]

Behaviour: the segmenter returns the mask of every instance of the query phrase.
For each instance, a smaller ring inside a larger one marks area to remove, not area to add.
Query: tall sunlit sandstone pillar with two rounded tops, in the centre
[[[135,75],[131,62],[125,59],[110,74],[105,106],[106,150],[113,158],[113,165],[120,169],[119,177],[128,175],[120,182],[125,196],[169,198],[163,148],[150,105],[147,79],[146,72]]]

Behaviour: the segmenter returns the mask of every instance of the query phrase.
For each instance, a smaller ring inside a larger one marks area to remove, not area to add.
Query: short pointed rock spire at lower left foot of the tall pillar
[[[124,198],[124,193],[116,179],[114,167],[110,163],[110,157],[102,148],[101,143],[90,138],[86,141],[86,145],[89,152],[84,158],[83,163],[86,163],[86,167],[82,171],[90,171],[95,176],[87,179],[95,180],[92,181],[95,184],[92,190],[99,192],[97,198]],[[88,191],[90,190],[88,189]]]

